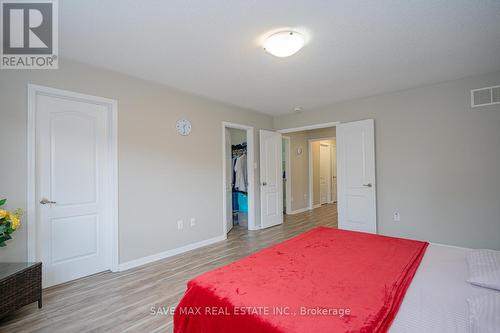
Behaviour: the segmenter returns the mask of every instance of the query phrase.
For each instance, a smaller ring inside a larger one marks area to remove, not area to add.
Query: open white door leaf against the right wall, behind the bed
[[[337,125],[339,228],[377,232],[373,119]]]

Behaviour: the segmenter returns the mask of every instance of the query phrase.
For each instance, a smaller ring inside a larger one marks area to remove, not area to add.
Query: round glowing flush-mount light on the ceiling
[[[284,58],[297,53],[305,44],[303,35],[296,31],[280,31],[267,37],[264,50],[273,56]]]

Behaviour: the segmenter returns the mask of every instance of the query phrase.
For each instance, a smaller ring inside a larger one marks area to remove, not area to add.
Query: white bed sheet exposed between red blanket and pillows
[[[389,332],[467,332],[467,298],[500,293],[466,281],[467,251],[470,250],[429,245]]]

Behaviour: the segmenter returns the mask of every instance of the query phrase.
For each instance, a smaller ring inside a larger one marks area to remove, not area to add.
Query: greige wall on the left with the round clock
[[[28,83],[118,100],[121,263],[221,236],[222,121],[255,126],[256,150],[258,129],[272,128],[263,114],[69,61],[59,70],[2,70],[0,197],[9,208],[26,208]],[[193,124],[187,137],[175,131],[181,117]],[[176,221],[190,217],[196,226],[177,230]],[[0,262],[26,259],[26,226],[13,236]]]

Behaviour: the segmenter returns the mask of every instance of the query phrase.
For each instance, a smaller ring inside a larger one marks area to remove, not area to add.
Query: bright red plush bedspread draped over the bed
[[[386,332],[427,245],[315,228],[189,281],[174,332]]]

